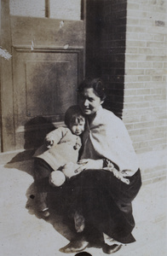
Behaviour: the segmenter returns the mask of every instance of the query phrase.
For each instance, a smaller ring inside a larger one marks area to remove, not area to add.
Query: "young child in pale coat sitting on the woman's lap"
[[[65,182],[66,177],[78,174],[74,171],[78,168],[78,152],[81,148],[79,135],[83,132],[85,125],[83,113],[78,106],[67,109],[65,124],[67,127],[60,127],[49,132],[43,146],[38,148],[34,154],[38,208],[43,212],[44,217],[49,216],[49,208],[46,203],[49,183],[58,187]],[[41,160],[44,161],[44,166],[47,166],[48,170],[40,167]],[[49,177],[48,184],[46,184],[46,177]],[[45,180],[45,184],[41,185],[43,180]]]

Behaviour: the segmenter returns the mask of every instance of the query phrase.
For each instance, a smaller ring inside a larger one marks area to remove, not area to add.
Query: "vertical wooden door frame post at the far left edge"
[[[1,47],[12,55],[9,0],[1,0]],[[1,56],[1,151],[14,150],[12,57]]]

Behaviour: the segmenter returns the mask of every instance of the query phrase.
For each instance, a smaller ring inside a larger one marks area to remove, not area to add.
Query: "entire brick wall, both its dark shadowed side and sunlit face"
[[[105,108],[124,120],[139,156],[143,183],[160,181],[165,178],[167,153],[167,1],[89,1],[98,3],[99,9],[91,22],[88,17],[88,28],[92,22],[94,26],[87,44],[91,65],[86,68],[92,70],[98,63],[95,75],[102,77],[108,90]]]

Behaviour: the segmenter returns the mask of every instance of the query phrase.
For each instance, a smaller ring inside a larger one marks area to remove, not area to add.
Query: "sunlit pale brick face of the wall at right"
[[[166,169],[166,3],[127,3],[123,120],[147,182],[163,178]]]

